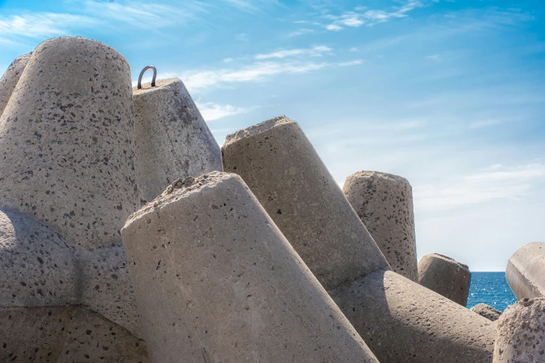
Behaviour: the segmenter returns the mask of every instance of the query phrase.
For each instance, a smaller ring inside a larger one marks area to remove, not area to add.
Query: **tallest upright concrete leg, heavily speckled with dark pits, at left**
[[[70,243],[120,243],[138,201],[129,64],[95,40],[36,47],[0,117],[0,207]]]

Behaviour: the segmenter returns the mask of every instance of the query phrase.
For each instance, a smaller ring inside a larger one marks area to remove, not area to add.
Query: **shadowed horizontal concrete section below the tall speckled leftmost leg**
[[[123,246],[74,248],[37,220],[0,209],[0,307],[65,304],[143,336]]]

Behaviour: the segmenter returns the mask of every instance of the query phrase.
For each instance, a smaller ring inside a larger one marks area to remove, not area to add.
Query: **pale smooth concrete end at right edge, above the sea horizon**
[[[517,299],[545,296],[545,243],[526,243],[507,261],[505,279]]]

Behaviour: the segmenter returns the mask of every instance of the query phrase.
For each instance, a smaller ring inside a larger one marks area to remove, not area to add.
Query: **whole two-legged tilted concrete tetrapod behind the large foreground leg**
[[[492,323],[388,271],[297,122],[274,118],[229,135],[222,156],[381,362],[491,362]]]

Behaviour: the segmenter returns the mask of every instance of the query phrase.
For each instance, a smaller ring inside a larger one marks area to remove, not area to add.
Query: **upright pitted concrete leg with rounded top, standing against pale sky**
[[[356,172],[342,193],[386,257],[392,271],[418,282],[413,190],[409,181],[385,172]]]

